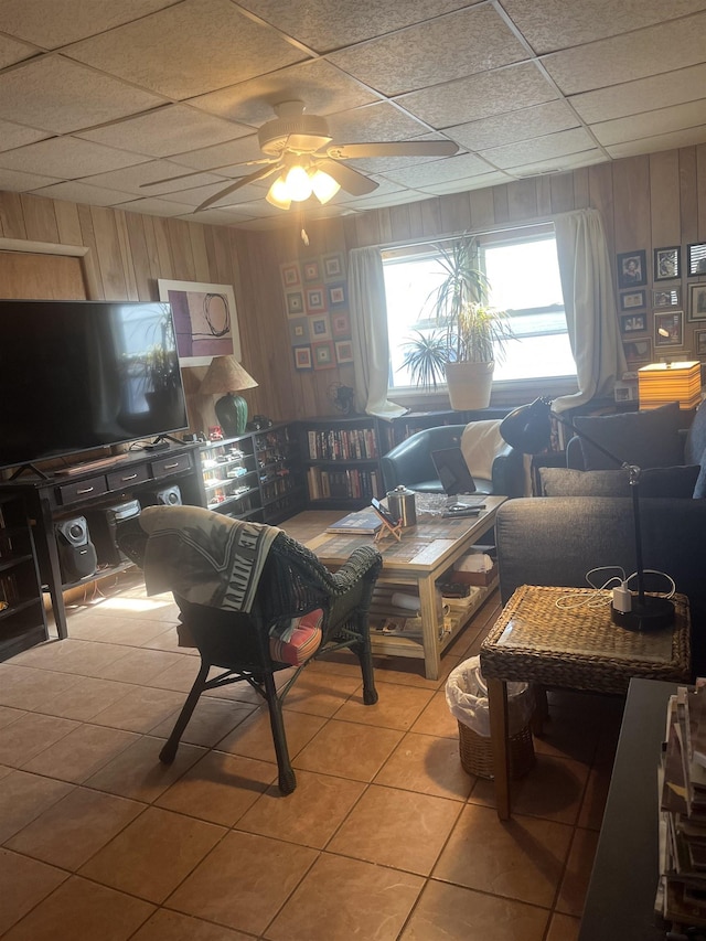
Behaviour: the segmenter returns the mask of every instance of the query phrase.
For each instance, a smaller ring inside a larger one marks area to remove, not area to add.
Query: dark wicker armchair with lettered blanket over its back
[[[195,506],[150,506],[120,525],[122,552],[145,571],[148,595],[171,590],[201,669],[160,752],[173,761],[199,697],[206,689],[248,683],[269,708],[279,789],[297,787],[282,703],[301,670],[322,653],[349,649],[363,674],[363,702],[377,692],[367,612],[382,558],[356,548],[330,573],[304,546],[272,526],[244,523]],[[295,666],[277,688],[275,674]],[[208,678],[212,667],[221,672]]]

